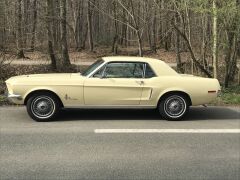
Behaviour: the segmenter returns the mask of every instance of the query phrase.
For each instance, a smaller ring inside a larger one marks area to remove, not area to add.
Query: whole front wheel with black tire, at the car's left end
[[[61,108],[59,99],[51,93],[40,92],[33,94],[27,100],[29,116],[39,122],[46,122],[57,117]]]

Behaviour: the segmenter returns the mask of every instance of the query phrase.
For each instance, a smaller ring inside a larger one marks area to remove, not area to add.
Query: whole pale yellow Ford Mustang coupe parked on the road
[[[61,108],[152,108],[179,120],[189,106],[217,97],[217,79],[178,74],[161,60],[103,57],[80,73],[32,74],[6,81],[8,98],[24,104],[37,121],[48,121]]]

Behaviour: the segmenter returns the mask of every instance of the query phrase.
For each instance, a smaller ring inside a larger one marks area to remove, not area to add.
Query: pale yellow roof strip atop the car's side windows
[[[135,62],[150,62],[150,61],[159,61],[163,62],[159,59],[153,59],[148,57],[138,57],[138,56],[107,56],[102,58],[106,62],[110,61],[135,61]]]

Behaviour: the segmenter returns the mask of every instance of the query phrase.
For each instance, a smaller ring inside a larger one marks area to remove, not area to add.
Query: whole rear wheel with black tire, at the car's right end
[[[159,102],[158,110],[166,120],[181,120],[189,110],[189,102],[184,95],[167,95]]]

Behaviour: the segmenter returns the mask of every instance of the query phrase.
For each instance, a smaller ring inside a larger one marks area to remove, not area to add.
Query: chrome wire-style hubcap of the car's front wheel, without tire
[[[32,113],[38,118],[48,118],[55,110],[55,104],[50,97],[39,96],[32,102]]]

